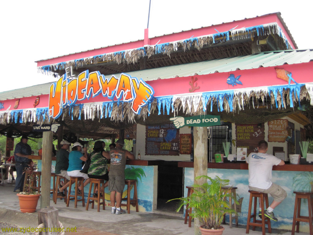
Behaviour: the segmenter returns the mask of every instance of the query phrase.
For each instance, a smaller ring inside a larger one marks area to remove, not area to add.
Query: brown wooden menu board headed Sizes
[[[285,142],[288,136],[288,120],[276,119],[268,122],[269,125],[269,142]]]

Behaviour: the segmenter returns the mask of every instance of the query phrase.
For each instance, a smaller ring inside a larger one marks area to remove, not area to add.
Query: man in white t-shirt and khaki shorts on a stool
[[[262,193],[269,193],[273,197],[272,204],[264,211],[264,216],[277,221],[273,210],[287,196],[286,191],[279,185],[271,182],[272,166],[285,165],[285,162],[271,154],[267,154],[268,144],[265,140],[258,143],[258,153],[251,153],[246,159],[249,164],[249,189]],[[259,217],[261,216],[261,202],[259,201]]]

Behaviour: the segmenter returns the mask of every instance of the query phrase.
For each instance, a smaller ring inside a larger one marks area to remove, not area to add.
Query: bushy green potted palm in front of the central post
[[[214,179],[207,175],[196,177],[198,180],[205,178],[209,182],[202,185],[194,184],[193,193],[189,197],[175,198],[172,200],[180,200],[177,204],[177,212],[186,206],[186,209],[192,208],[190,216],[197,218],[202,224],[199,229],[201,234],[222,234],[224,227],[221,226],[225,213],[236,213],[234,209],[229,208],[226,197],[231,197],[234,203],[238,205],[236,197],[221,190],[222,187],[229,184],[229,180],[222,180],[218,176]],[[207,233],[209,232],[209,233]]]

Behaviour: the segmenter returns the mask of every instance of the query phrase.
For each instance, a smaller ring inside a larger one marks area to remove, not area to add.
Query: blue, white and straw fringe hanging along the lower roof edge
[[[298,90],[295,87],[298,87]],[[312,84],[307,84],[301,88],[299,86],[290,86],[290,88],[277,89],[277,92],[275,89],[270,90],[269,88],[260,87],[254,90],[234,90],[233,93],[220,91],[220,93],[207,92],[156,97],[150,104],[141,108],[140,114],[133,112],[131,102],[86,103],[64,108],[61,118],[62,120],[67,116],[72,120],[81,118],[94,120],[97,118],[99,121],[102,118],[110,118],[112,122],[135,123],[137,119],[145,121],[147,116],[154,112],[162,115],[161,110],[163,113],[166,110],[167,114],[172,112],[174,117],[181,111],[187,116],[204,113],[207,108],[212,111],[213,106],[217,106],[218,111],[239,113],[244,108],[251,108],[251,106],[252,108],[258,108],[260,100],[263,106],[266,105],[268,108],[276,106],[283,109],[287,106],[294,107],[297,103],[300,105],[300,101],[304,99],[311,100],[312,90]],[[267,101],[270,101],[269,105]],[[254,102],[257,106],[254,105]],[[12,122],[43,124],[45,120],[50,120],[48,108],[0,111],[0,123],[4,125]]]

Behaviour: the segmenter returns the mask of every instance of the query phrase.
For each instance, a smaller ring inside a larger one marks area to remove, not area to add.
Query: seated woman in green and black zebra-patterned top
[[[102,141],[96,141],[93,151],[90,154],[90,167],[88,169],[88,177],[93,179],[106,180],[104,187],[109,184],[108,159],[110,154],[105,152],[102,147]],[[98,192],[98,189],[96,189]]]

